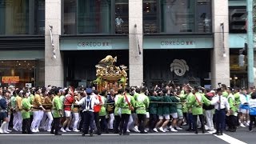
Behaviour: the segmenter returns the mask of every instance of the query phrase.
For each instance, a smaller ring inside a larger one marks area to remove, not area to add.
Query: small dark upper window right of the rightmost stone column
[[[246,33],[246,6],[229,7],[230,33]]]

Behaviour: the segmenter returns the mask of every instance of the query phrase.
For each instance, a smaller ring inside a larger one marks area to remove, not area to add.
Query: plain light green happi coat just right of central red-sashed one
[[[135,100],[136,114],[146,114],[146,110],[150,106],[150,99],[144,94],[138,94]]]

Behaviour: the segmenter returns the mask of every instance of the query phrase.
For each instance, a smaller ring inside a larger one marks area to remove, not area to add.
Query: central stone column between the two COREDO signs
[[[129,84],[143,82],[142,0],[129,0]],[[141,54],[139,54],[138,46]]]

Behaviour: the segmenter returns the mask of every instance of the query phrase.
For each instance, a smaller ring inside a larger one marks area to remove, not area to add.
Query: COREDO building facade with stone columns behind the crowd
[[[9,64],[0,63],[0,77],[18,76],[15,85],[90,86],[95,65],[112,55],[128,66],[130,86],[246,86],[246,65],[238,66],[245,0],[1,2],[0,58]],[[2,86],[14,84],[6,81]]]

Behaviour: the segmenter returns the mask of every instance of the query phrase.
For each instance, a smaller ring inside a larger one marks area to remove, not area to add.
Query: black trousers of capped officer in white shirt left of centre
[[[85,111],[83,114],[83,125],[82,125],[82,133],[88,134],[89,126],[90,126],[90,134],[94,133],[94,112]]]

